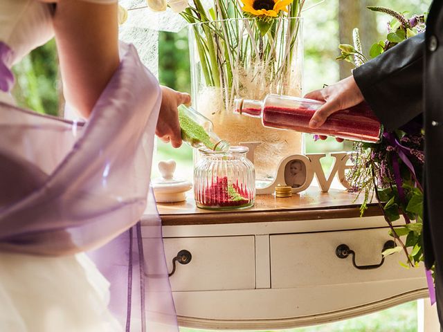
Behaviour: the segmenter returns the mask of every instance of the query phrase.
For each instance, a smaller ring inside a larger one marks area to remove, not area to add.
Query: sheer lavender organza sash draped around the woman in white
[[[161,91],[133,46],[121,58],[88,122],[0,102],[0,249],[93,250],[127,331],[178,331],[161,222],[147,202]]]

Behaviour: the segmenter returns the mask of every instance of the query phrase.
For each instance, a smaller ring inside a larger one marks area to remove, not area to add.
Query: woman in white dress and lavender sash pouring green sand
[[[144,331],[111,312],[110,284],[84,252],[141,218],[154,131],[179,147],[177,106],[190,96],[119,50],[117,12],[112,0],[0,0],[0,331]],[[64,98],[85,122],[10,95],[12,65],[54,35]]]

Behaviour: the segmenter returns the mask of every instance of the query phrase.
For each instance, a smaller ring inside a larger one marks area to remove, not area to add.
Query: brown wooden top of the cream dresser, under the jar
[[[354,218],[360,215],[362,198],[345,190],[321,192],[310,187],[288,198],[257,195],[255,205],[244,210],[214,211],[197,208],[192,191],[180,203],[157,203],[163,225],[204,225],[311,219]],[[370,204],[365,216],[381,215],[377,204]]]

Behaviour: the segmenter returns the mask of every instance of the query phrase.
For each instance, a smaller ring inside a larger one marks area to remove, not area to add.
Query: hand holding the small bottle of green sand
[[[190,104],[191,97],[188,93],[172,90],[161,86],[161,107],[159,120],[155,129],[156,136],[163,142],[171,142],[172,147],[181,146],[181,130],[177,107],[181,104]]]

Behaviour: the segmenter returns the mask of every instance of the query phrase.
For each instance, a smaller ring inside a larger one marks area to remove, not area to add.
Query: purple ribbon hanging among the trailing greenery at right
[[[395,147],[395,151],[397,152],[397,155],[403,161],[403,163],[408,167],[410,174],[413,176],[415,183],[419,186],[420,190],[423,192],[423,188],[420,186],[419,182],[417,181],[417,176],[415,174],[415,169],[413,164],[410,162],[408,156],[410,156],[410,149],[408,147],[405,147],[404,145],[401,145],[401,143],[397,140],[394,133],[390,133],[388,131],[383,132],[383,137],[390,142],[390,145],[392,147]],[[399,160],[395,156],[392,156],[392,168],[394,169],[394,177],[395,177],[395,183],[397,184],[397,190],[399,191],[399,197],[401,201],[405,201],[405,195],[404,195],[404,189],[403,189],[403,181],[401,180],[401,174],[400,174],[400,167],[399,167]],[[406,220],[406,223],[410,223],[410,219],[402,211],[402,214],[404,216],[404,219]],[[431,270],[426,269],[426,282],[428,283],[428,293],[429,293],[429,299],[431,299],[431,304],[434,304],[436,302],[435,297],[435,286],[433,282],[433,277]]]

